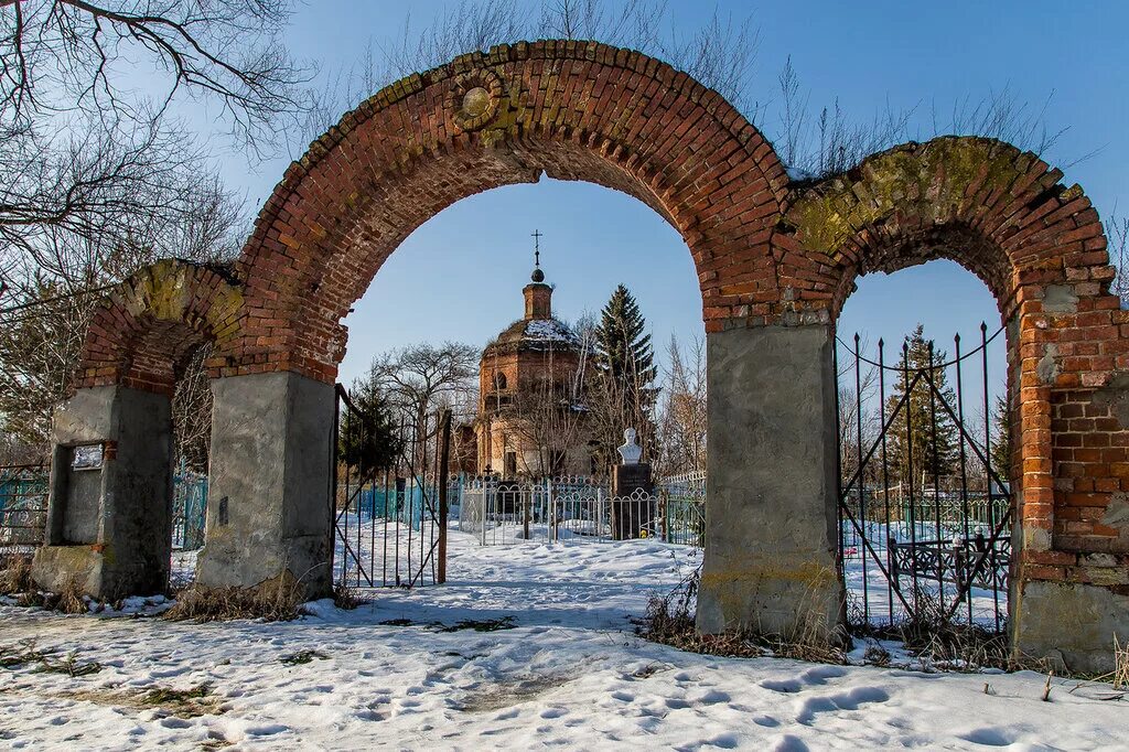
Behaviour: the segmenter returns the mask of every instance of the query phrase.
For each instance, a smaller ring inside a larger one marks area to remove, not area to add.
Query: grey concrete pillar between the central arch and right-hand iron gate
[[[698,628],[838,637],[829,326],[707,338],[709,455]]]

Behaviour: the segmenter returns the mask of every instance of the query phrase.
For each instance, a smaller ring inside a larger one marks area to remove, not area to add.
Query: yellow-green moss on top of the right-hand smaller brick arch
[[[912,207],[938,222],[956,217],[974,183],[977,193],[1006,191],[1034,160],[991,139],[943,137],[908,143],[806,189],[787,218],[806,247],[834,255],[858,230],[899,210]]]

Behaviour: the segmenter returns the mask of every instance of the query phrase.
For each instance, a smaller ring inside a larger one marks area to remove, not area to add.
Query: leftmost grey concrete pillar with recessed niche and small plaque
[[[70,578],[99,598],[163,592],[173,506],[169,400],[122,386],[79,390],[61,405],[46,540],[32,575],[58,589]],[[100,470],[72,470],[73,448],[103,445]]]

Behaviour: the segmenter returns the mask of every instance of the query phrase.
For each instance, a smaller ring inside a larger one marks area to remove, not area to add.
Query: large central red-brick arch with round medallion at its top
[[[640,53],[519,43],[393,84],[291,165],[239,261],[240,365],[265,358],[332,379],[339,321],[409,233],[542,173],[623,191],[665,217],[693,255],[707,320],[778,297],[770,235],[787,175],[755,128]]]

